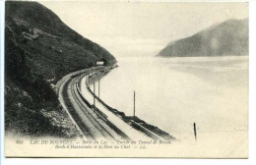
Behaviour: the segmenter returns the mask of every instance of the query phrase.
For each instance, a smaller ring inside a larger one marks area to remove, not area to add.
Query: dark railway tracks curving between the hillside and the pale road
[[[83,101],[77,83],[79,83],[79,76],[73,76],[61,84],[63,86],[60,87],[59,92],[63,96],[63,103],[84,136],[92,140],[116,141],[127,139],[127,137],[112,129],[111,125],[107,124],[109,123],[107,119],[96,113],[94,108],[89,107]]]

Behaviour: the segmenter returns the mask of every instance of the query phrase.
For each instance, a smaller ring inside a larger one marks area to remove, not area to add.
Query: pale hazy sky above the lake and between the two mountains
[[[172,40],[228,19],[248,18],[247,3],[40,2],[115,57],[154,56]]]

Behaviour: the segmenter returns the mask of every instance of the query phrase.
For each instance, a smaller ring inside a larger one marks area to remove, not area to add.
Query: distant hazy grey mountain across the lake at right
[[[248,55],[248,19],[227,20],[192,36],[171,41],[157,56],[193,57]]]

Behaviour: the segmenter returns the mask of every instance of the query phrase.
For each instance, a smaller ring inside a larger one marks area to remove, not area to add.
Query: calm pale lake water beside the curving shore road
[[[176,138],[193,138],[194,122],[198,138],[247,135],[248,56],[119,58],[118,66],[100,80],[100,97],[126,115],[135,90],[136,116]]]

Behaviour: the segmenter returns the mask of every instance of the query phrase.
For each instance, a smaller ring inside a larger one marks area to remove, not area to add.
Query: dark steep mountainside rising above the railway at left
[[[112,65],[115,58],[37,2],[7,1],[5,7],[5,131],[77,136],[51,85],[96,60]]]

